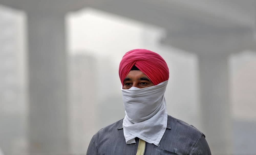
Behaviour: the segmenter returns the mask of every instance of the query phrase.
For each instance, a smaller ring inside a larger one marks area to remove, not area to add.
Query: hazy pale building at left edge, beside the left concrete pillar
[[[0,148],[27,152],[24,13],[0,6]]]

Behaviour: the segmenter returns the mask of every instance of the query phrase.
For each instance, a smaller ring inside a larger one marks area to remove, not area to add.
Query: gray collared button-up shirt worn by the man
[[[135,140],[134,144],[125,143],[122,119],[101,129],[92,137],[87,155],[135,155],[139,139]],[[168,115],[167,128],[159,146],[146,143],[144,154],[211,155],[211,152],[203,133]]]

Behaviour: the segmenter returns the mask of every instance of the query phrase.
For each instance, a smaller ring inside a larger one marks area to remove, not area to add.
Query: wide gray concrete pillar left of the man
[[[27,12],[30,154],[69,151],[64,17]]]

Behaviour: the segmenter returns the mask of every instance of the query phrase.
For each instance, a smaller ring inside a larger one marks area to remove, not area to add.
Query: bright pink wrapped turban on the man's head
[[[169,79],[168,66],[159,54],[146,49],[134,49],[124,54],[119,65],[122,85],[133,65],[150,78],[154,85]]]

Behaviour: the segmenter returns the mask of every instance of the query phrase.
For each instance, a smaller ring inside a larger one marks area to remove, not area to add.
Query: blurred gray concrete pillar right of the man
[[[198,58],[202,132],[212,154],[230,154],[228,56],[199,54]]]

